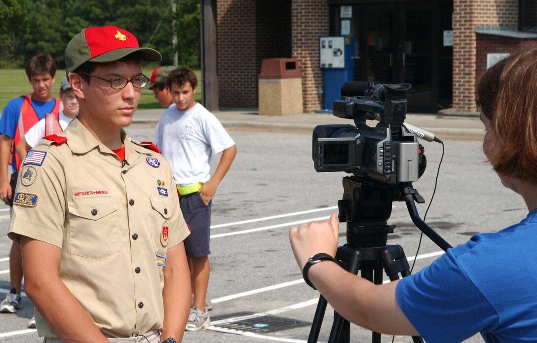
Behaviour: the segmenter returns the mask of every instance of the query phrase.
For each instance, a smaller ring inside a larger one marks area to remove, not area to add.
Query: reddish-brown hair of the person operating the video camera
[[[489,162],[503,177],[537,184],[537,47],[481,75],[477,103],[491,122]]]

